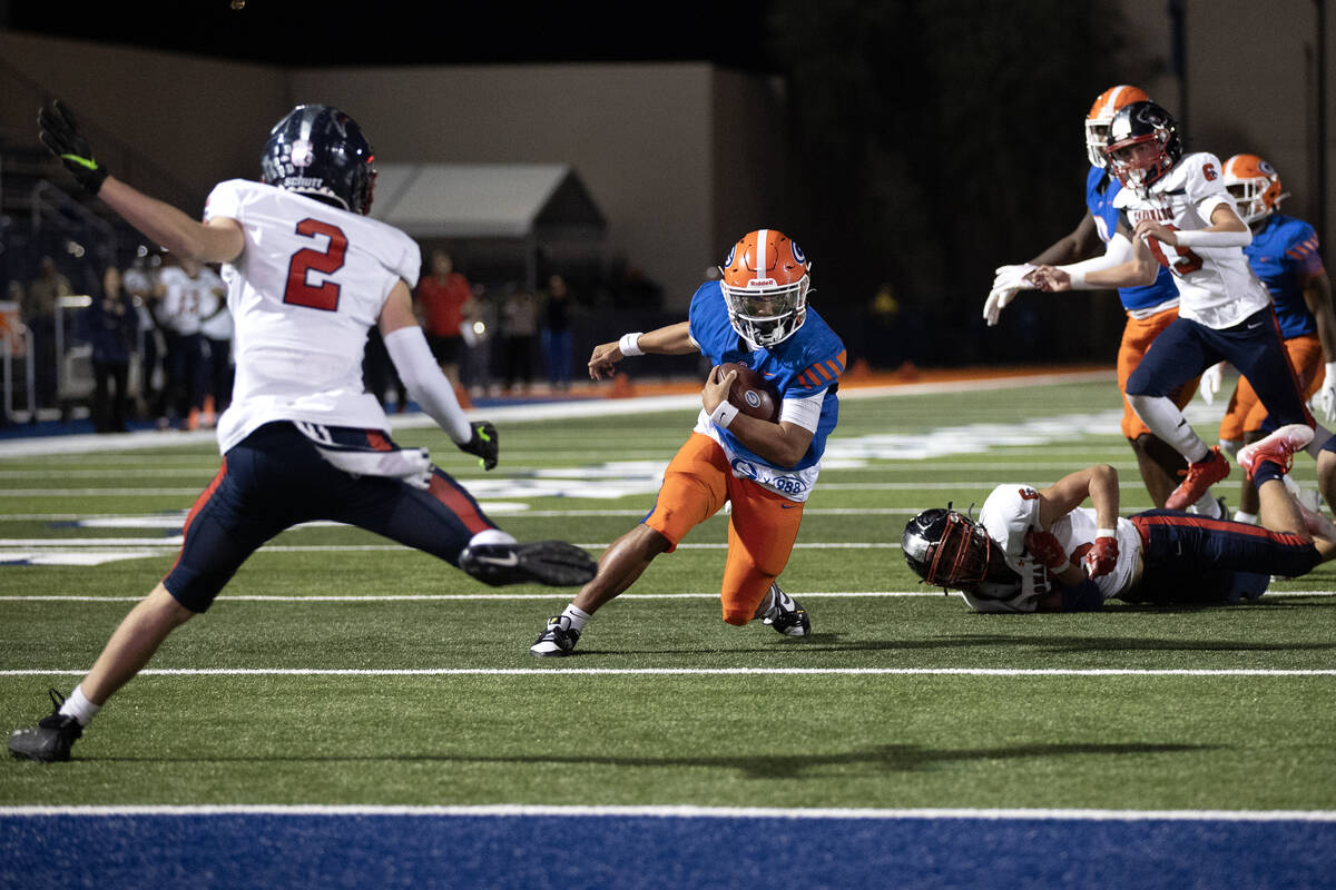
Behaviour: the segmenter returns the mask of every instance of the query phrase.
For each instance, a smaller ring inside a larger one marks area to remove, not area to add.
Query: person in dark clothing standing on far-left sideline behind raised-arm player
[[[126,432],[130,356],[139,336],[139,315],[115,266],[103,272],[102,295],[88,306],[86,322],[92,346],[94,428]]]

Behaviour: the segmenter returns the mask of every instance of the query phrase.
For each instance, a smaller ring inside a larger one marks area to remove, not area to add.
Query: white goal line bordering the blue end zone
[[[717,807],[553,806],[530,803],[449,805],[327,805],[327,803],[200,803],[200,805],[72,805],[0,806],[0,818],[135,815],[291,815],[291,817],[570,817],[669,819],[1043,819],[1077,822],[1336,822],[1336,810],[1082,810],[1082,809],[862,809],[862,807]]]

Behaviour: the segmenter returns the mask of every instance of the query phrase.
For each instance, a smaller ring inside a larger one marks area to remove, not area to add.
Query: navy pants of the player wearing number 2
[[[394,447],[375,430],[329,431],[339,444]],[[186,518],[180,556],[163,584],[182,606],[203,612],[261,544],[319,519],[374,531],[453,566],[473,535],[496,527],[437,467],[426,491],[398,479],[354,476],[327,463],[291,423],[267,423],[223,456]]]

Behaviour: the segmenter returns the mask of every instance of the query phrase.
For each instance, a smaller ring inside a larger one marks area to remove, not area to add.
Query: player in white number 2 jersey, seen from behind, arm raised
[[[223,464],[190,511],[176,564],[69,698],[52,690],[56,710],[9,737],[13,757],[69,759],[83,727],[171,630],[206,611],[261,544],[301,522],[355,524],[489,584],[593,578],[585,551],[516,542],[425,450],[390,442],[379,402],[362,387],[373,324],[414,400],[450,439],[488,470],[498,455],[496,428],[465,418],[413,315],[417,244],[365,216],[375,168],[353,119],[327,105],[294,108],[270,131],[263,181],[218,184],[203,221],[110,176],[59,103],[39,123],[75,179],[128,223],[178,256],[223,263],[236,383],[218,424]]]

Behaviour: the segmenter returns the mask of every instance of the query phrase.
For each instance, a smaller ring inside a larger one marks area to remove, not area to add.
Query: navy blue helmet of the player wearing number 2
[[[375,156],[357,121],[330,105],[298,105],[269,131],[263,180],[353,213],[371,209]]]

